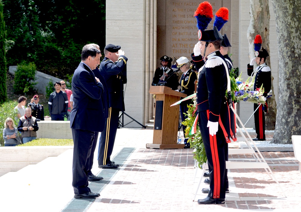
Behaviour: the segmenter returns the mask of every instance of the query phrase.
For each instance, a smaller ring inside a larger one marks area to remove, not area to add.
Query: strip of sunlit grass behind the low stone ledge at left
[[[38,138],[20,146],[73,146],[72,139]]]

